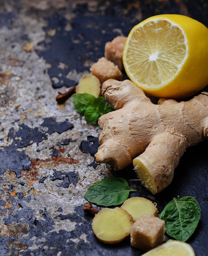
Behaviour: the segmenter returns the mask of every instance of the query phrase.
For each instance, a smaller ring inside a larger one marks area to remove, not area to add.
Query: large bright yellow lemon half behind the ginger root
[[[124,45],[126,74],[155,97],[182,99],[208,85],[208,28],[179,14],[161,14],[133,27]]]

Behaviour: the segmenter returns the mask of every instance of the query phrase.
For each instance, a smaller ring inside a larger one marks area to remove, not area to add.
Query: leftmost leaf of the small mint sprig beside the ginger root
[[[86,108],[91,106],[95,96],[88,93],[77,93],[72,95],[72,102],[78,113],[84,115]]]

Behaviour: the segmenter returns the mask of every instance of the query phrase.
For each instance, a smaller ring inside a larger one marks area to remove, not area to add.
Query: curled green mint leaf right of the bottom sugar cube
[[[186,196],[173,198],[159,214],[159,218],[165,221],[169,236],[185,242],[195,231],[200,215],[201,209],[195,198]]]

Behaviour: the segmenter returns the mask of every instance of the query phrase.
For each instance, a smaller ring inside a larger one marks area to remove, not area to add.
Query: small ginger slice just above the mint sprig
[[[100,80],[92,74],[87,74],[82,76],[77,84],[76,93],[88,93],[97,98],[100,96],[100,87]]]

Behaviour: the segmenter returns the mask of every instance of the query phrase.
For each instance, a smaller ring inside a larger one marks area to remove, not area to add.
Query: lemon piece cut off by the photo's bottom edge
[[[188,243],[170,239],[142,256],[195,256],[195,252]]]

